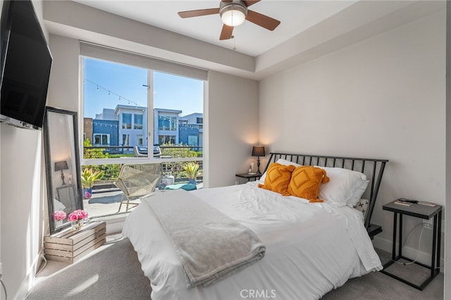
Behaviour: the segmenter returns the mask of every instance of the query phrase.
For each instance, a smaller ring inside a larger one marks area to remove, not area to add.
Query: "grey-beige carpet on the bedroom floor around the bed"
[[[142,273],[136,252],[128,239],[114,241],[118,237],[110,237],[109,244],[73,265],[49,261],[27,299],[150,299],[150,282]],[[381,255],[387,254],[381,252]],[[412,270],[404,271],[397,270],[400,274],[412,275]],[[417,272],[413,275],[419,276]],[[303,299],[302,295],[299,299]],[[370,273],[348,280],[323,299],[443,299],[443,273],[422,292],[382,273]]]

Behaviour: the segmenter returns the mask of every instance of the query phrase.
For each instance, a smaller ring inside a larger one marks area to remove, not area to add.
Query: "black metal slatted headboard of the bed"
[[[369,196],[369,210],[365,217],[365,227],[367,229],[369,228],[374,204],[376,204],[376,197],[378,196],[379,187],[381,186],[385,163],[388,163],[387,159],[271,152],[268,163],[266,163],[265,171],[271,163],[275,163],[279,158],[292,161],[293,163],[299,163],[299,165],[318,165],[320,167],[345,168],[364,173],[366,175],[366,179],[369,180],[369,185],[365,192],[366,196]],[[368,192],[369,195],[367,194]]]

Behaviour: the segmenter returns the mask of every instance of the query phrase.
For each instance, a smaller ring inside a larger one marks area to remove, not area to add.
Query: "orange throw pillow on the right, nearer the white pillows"
[[[288,193],[309,199],[310,202],[323,202],[322,199],[318,199],[318,193],[321,184],[326,182],[329,182],[326,170],[302,165],[292,172]]]

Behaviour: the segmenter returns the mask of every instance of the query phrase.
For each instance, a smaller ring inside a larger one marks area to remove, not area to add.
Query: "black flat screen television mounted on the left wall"
[[[4,1],[0,26],[0,122],[40,129],[52,58],[31,1]]]

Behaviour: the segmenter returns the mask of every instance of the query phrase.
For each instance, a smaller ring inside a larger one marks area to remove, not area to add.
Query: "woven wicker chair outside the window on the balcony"
[[[127,198],[125,211],[128,211],[130,206],[138,205],[130,204],[130,200],[135,200],[154,192],[161,181],[162,170],[161,163],[126,163],[122,165],[118,180],[114,182],[114,185],[123,192],[118,212],[121,211],[122,204],[125,201],[124,198]]]

